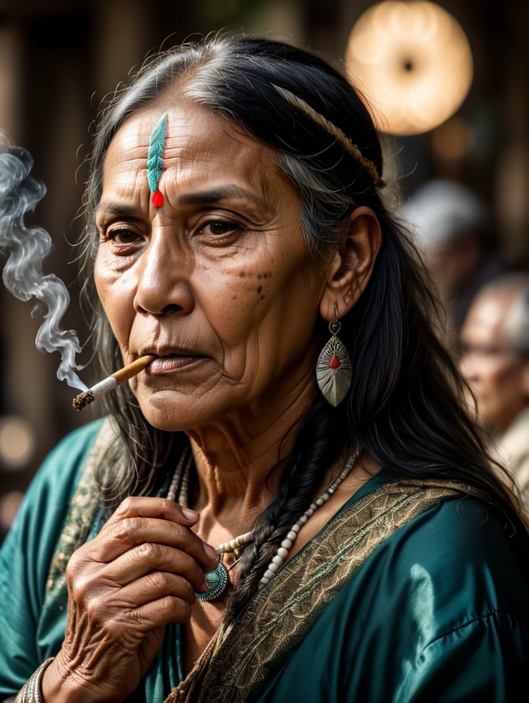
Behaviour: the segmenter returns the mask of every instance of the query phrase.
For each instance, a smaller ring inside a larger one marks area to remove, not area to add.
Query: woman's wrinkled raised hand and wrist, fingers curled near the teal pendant
[[[46,703],[119,702],[136,689],[169,623],[190,619],[217,555],[192,533],[198,513],[127,498],[67,565],[65,640],[43,678]],[[202,568],[204,571],[202,571]]]

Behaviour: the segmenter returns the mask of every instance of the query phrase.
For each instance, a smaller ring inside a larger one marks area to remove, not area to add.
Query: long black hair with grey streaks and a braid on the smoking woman
[[[277,41],[223,36],[148,59],[100,114],[84,201],[86,270],[93,268],[97,250],[94,211],[107,146],[129,115],[171,91],[235,121],[275,150],[277,165],[301,195],[301,224],[314,256],[337,247],[337,233],[359,205],[373,210],[382,230],[367,288],[341,319],[340,337],[353,365],[351,389],[337,408],[318,396],[294,450],[278,458],[277,494],[254,525],[254,544],[244,551],[230,617],[256,590],[277,543],[311,503],[344,445],[359,443],[395,476],[462,479],[485,491],[507,522],[516,523],[519,503],[507,472],[498,478],[466,413],[464,382],[442,340],[444,312],[431,293],[429,274],[381,198],[382,150],[370,110],[326,60]],[[300,110],[282,91],[301,98],[310,110]],[[344,148],[329,124],[358,152]],[[110,373],[121,363],[119,347],[89,288],[96,346],[103,370]],[[326,328],[321,321],[322,338]],[[157,469],[176,461],[185,437],[151,427],[127,385],[107,396],[107,403],[124,448],[119,480],[106,487],[117,503],[148,491]]]

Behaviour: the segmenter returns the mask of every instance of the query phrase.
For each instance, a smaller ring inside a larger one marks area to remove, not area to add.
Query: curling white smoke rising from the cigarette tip
[[[74,330],[61,330],[60,321],[70,294],[60,278],[42,273],[43,259],[51,252],[51,237],[41,227],[28,227],[25,215],[34,212],[44,198],[46,186],[30,172],[33,159],[27,150],[13,146],[0,130],[0,253],[7,255],[2,278],[19,300],[37,299],[32,315],[41,314],[35,344],[41,352],[60,352],[57,378],[72,388],[86,390],[75,369],[81,345]]]

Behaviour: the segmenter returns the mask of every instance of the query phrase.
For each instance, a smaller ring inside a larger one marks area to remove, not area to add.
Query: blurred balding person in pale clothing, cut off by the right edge
[[[529,510],[529,273],[500,276],[478,292],[461,342],[478,419],[496,434]]]

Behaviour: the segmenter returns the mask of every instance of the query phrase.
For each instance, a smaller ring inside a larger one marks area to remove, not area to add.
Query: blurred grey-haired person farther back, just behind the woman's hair
[[[432,179],[402,207],[459,334],[474,295],[509,271],[485,202],[457,181]]]

